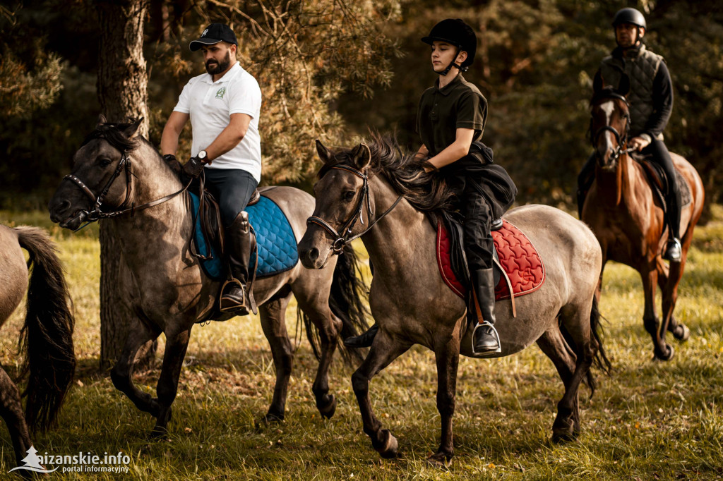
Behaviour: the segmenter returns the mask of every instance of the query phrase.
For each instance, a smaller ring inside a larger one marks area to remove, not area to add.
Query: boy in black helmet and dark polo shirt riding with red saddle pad
[[[464,250],[482,319],[471,316],[472,347],[476,354],[500,352],[495,329],[495,285],[492,276],[495,245],[490,234],[492,220],[502,217],[515,199],[517,188],[508,173],[492,164],[492,152],[482,142],[487,121],[487,100],[467,82],[461,72],[474,61],[477,38],[460,19],[437,23],[424,43],[432,47],[432,69],[439,77],[422,94],[416,129],[422,147],[416,154],[444,176],[459,199],[464,216]],[[484,152],[484,153],[483,153]],[[473,309],[476,311],[476,309]],[[346,345],[372,344],[375,327]]]

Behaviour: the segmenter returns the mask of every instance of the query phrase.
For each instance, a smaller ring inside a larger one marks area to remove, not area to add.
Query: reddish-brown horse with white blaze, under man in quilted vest
[[[675,350],[665,341],[666,332],[681,341],[690,337],[690,329],[675,319],[673,311],[705,193],[693,165],[671,152],[673,165],[687,184],[680,190],[690,192],[690,202],[680,206],[682,258],[680,263],[668,266],[661,254],[669,234],[662,201],[654,195],[641,163],[633,160],[626,149],[630,112],[625,95],[629,84],[621,83],[619,91],[604,87],[602,82],[594,84],[590,134],[597,162],[595,181],[583,204],[581,219],[593,230],[602,248],[599,292],[607,261],[636,269],[643,280],[643,325],[653,339],[654,358],[669,360]],[[655,309],[656,286],[662,290],[662,321]]]

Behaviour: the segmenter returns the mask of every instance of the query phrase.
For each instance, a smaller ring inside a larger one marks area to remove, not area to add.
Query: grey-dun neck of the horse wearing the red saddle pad
[[[399,196],[382,175],[369,179],[369,194],[376,215],[382,215]],[[419,270],[413,267],[423,257],[420,254],[421,248],[425,246],[425,237],[429,240],[429,248],[433,250],[434,230],[427,217],[414,209],[406,199],[402,199],[372,230],[361,237],[361,241],[374,264],[375,277],[388,274],[414,280],[419,277]],[[424,259],[423,262],[436,267],[433,259]]]

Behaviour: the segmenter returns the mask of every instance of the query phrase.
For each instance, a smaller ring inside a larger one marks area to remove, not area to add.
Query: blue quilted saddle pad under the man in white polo
[[[192,201],[193,222],[196,225],[195,240],[200,254],[208,255],[209,247],[201,232],[198,217],[198,196],[189,192]],[[256,233],[256,252],[251,254],[249,266],[254,265],[258,255],[256,277],[268,277],[296,266],[299,253],[296,251],[296,236],[286,215],[273,200],[261,196],[257,204],[246,208],[249,222]],[[216,246],[210,246],[213,259],[201,261],[201,267],[213,280],[226,279],[226,263],[218,254]]]

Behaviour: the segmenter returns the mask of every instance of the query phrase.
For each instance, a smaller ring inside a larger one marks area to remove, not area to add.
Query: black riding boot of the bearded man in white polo
[[[236,316],[249,313],[249,296],[246,282],[249,279],[249,259],[251,257],[251,229],[249,215],[239,212],[231,227],[226,228],[226,260],[229,267],[229,279],[221,293],[221,311],[233,312]]]

